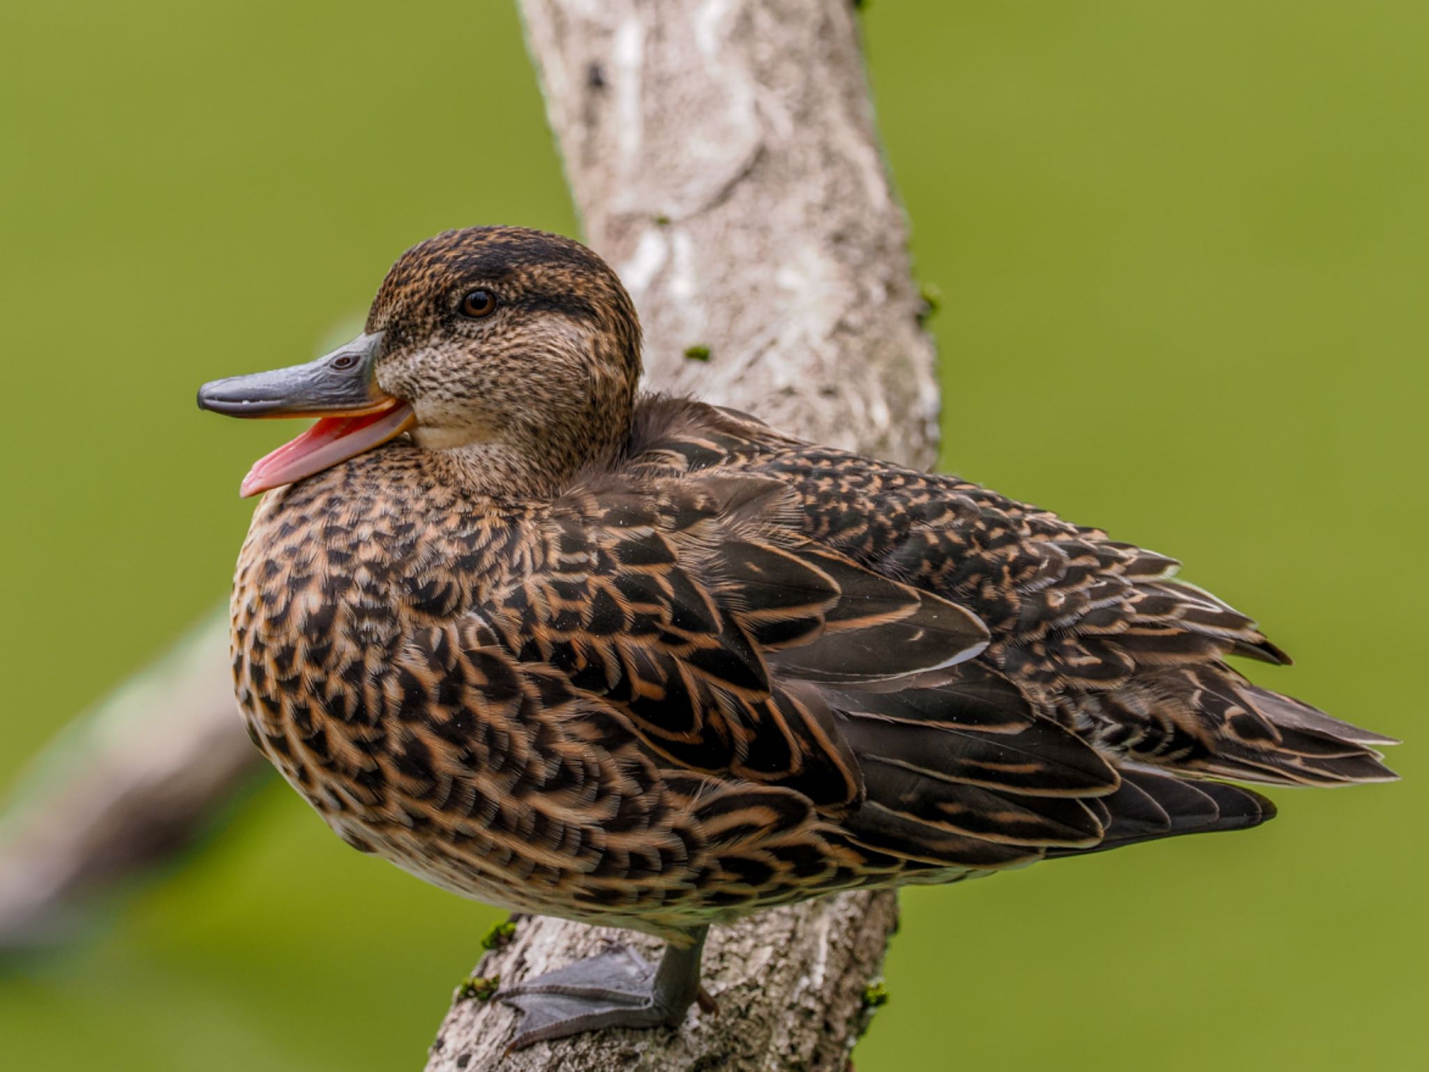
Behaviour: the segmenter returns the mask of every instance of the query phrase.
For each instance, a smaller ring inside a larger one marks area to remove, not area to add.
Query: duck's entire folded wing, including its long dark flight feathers
[[[1130,792],[1107,758],[976,657],[973,615],[800,535],[793,502],[767,479],[607,477],[557,503],[482,616],[626,715],[666,778],[796,790],[867,869],[1099,846]]]

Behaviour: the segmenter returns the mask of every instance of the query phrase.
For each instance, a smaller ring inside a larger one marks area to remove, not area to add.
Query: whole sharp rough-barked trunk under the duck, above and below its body
[[[652,386],[927,465],[933,349],[873,131],[849,0],[523,0],[586,237],[646,329]],[[463,988],[432,1046],[454,1069],[842,1069],[897,918],[849,893],[716,928],[719,1011],[506,1055],[516,1016]],[[514,982],[619,938],[526,919],[476,975]],[[477,986],[480,989],[480,986]]]

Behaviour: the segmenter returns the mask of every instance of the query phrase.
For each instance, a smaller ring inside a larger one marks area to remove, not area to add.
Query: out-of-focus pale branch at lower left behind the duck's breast
[[[67,726],[0,818],[0,951],[63,939],[190,845],[266,769],[229,670],[227,605]]]

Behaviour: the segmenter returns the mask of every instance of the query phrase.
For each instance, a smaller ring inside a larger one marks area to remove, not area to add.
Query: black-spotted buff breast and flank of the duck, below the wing
[[[346,842],[434,885],[689,925],[697,779],[672,783],[620,716],[506,650],[473,607],[530,543],[413,455],[374,452],[254,513],[231,605],[250,735]]]

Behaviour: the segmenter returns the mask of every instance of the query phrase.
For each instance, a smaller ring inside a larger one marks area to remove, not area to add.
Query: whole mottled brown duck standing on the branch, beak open
[[[204,384],[314,417],[260,459],[231,593],[254,745],[353,848],[626,928],[497,996],[513,1046],[679,1026],[707,929],[1382,782],[1392,738],[1252,683],[1289,657],[1175,559],[956,476],[640,389],[590,249],[402,254],[364,330]]]

